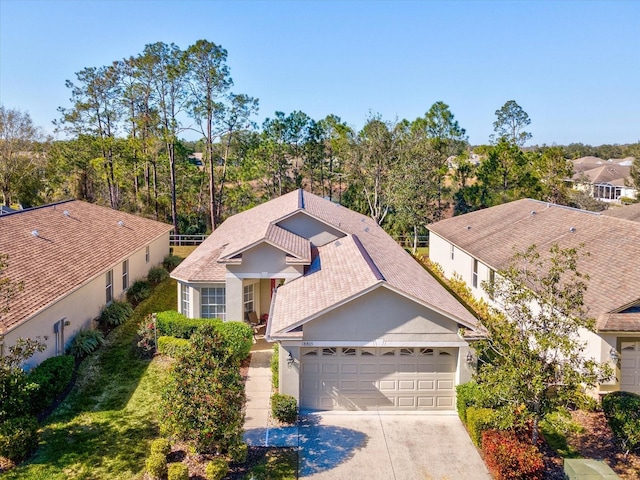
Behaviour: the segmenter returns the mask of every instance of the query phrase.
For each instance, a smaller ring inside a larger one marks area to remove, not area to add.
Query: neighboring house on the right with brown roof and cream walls
[[[554,243],[584,244],[589,255],[578,269],[589,275],[584,302],[597,322],[597,333],[582,332],[585,355],[620,359],[616,380],[600,392],[640,393],[640,223],[524,199],[442,220],[429,230],[429,258],[484,299],[482,282],[506,268],[515,252],[535,244],[544,255]]]

